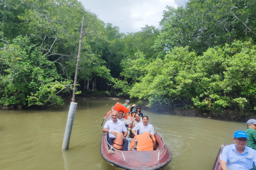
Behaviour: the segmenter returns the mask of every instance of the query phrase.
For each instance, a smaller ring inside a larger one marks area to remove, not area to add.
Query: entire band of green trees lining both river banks
[[[160,28],[121,33],[76,0],[0,4],[0,107],[46,109],[76,98],[136,98],[174,114],[256,118],[256,3],[189,0]],[[197,114],[198,113],[198,114]]]

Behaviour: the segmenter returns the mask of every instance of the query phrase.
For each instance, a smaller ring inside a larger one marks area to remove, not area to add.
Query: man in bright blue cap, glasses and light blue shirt
[[[256,151],[246,146],[247,134],[236,131],[235,144],[225,146],[221,154],[220,166],[222,170],[254,170],[256,166]]]

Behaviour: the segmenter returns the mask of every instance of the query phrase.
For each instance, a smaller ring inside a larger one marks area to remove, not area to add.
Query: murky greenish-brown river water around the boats
[[[130,100],[132,103],[133,100]],[[0,110],[1,170],[112,170],[101,156],[103,116],[124,100],[79,100],[70,145],[62,142],[70,103],[44,111]],[[162,170],[211,170],[221,144],[232,144],[246,123],[144,111],[172,152]],[[104,121],[105,123],[105,121]]]

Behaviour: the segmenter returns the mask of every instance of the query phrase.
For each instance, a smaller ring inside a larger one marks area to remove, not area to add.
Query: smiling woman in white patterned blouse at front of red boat
[[[133,135],[137,136],[137,133],[135,133],[136,130],[139,130],[139,134],[145,133],[146,131],[151,134],[154,134],[154,128],[152,125],[148,124],[147,116],[142,117],[142,122],[143,122],[143,124],[139,124],[132,129]],[[135,142],[134,142],[133,149],[136,149],[136,145],[137,145],[137,140],[135,140]]]

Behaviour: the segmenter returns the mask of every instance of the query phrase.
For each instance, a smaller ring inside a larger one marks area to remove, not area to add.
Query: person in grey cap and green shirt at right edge
[[[250,119],[247,121],[247,129],[245,131],[247,133],[247,145],[250,148],[256,150],[256,120]]]

